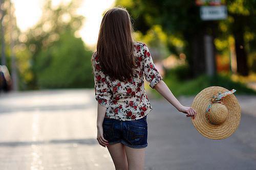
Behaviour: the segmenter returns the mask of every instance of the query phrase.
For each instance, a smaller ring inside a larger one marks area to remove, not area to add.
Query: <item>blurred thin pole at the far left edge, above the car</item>
[[[4,0],[0,0],[0,22],[1,22],[1,46],[2,46],[2,52],[1,52],[1,64],[6,65],[6,56],[5,56],[5,30],[4,30],[4,16],[5,12],[1,8],[2,4],[4,4]]]

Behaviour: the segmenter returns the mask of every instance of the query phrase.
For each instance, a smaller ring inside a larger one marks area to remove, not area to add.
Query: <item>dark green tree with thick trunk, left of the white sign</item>
[[[205,71],[205,59],[203,48],[204,34],[214,35],[216,22],[203,22],[200,19],[199,7],[195,1],[117,1],[118,5],[125,6],[134,18],[134,26],[137,30],[146,34],[154,25],[160,25],[168,36],[167,46],[169,51],[179,55],[185,52],[194,76]],[[209,24],[214,28],[209,27]],[[173,39],[183,42],[180,45]]]

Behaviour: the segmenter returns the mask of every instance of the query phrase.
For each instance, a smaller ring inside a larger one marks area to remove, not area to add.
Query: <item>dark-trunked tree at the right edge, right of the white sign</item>
[[[238,73],[248,76],[248,52],[249,43],[246,33],[255,36],[256,30],[256,1],[228,0],[228,12],[231,17],[229,20],[229,30],[234,37],[237,55]],[[251,39],[252,40],[252,39]],[[247,49],[246,49],[247,46]]]

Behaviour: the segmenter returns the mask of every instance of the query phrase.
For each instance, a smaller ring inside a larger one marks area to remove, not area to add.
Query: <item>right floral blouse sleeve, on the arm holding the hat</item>
[[[160,75],[159,71],[157,70],[151,53],[148,50],[148,47],[144,45],[143,48],[143,67],[144,67],[144,76],[147,82],[150,83],[151,88],[155,88],[155,85],[163,80],[163,77]]]

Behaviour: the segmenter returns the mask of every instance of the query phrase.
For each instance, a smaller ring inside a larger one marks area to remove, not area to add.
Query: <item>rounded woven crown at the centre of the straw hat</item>
[[[212,124],[219,125],[225,122],[228,117],[228,109],[220,103],[212,104],[209,111],[209,120]]]

